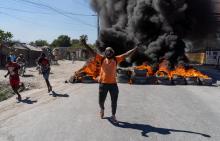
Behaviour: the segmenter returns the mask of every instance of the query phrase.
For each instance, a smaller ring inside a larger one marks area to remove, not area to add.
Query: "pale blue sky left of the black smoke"
[[[97,17],[89,0],[0,0],[0,29],[14,40],[29,43],[59,35],[78,39],[87,34],[88,42],[97,39]]]

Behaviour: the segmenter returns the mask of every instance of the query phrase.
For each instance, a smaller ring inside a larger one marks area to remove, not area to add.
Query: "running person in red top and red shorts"
[[[19,88],[24,89],[24,83],[20,82],[18,70],[20,69],[20,66],[16,62],[12,62],[11,58],[7,58],[7,64],[6,68],[8,70],[7,74],[5,75],[5,78],[9,75],[10,85],[13,89],[13,91],[18,95],[17,99],[18,101],[21,101],[21,95],[19,94],[18,90]]]

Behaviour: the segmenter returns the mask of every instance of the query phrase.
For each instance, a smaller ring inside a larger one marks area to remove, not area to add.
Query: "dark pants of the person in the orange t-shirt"
[[[112,115],[115,115],[119,93],[117,84],[99,84],[99,105],[102,110],[105,109],[104,104],[108,92],[111,96]]]

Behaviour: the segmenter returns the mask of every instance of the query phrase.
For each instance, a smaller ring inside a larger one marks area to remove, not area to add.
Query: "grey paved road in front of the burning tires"
[[[65,70],[63,70],[65,73]],[[0,103],[0,141],[219,141],[220,88],[119,84],[117,117],[110,97],[99,118],[97,84],[56,84]]]

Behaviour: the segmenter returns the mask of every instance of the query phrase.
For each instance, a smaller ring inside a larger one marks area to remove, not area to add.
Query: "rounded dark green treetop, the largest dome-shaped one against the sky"
[[[60,35],[57,39],[55,39],[52,44],[52,47],[70,47],[71,41],[70,37],[67,35]]]

